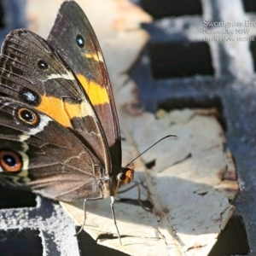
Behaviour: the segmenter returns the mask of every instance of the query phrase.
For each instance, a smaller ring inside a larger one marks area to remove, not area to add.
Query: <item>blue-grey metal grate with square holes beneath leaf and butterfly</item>
[[[16,10],[24,7],[22,0],[2,0],[2,5],[11,2],[16,4]],[[256,20],[256,3],[249,0],[183,2],[187,6],[169,0],[140,1],[143,9],[159,20],[145,26],[151,40],[131,76],[139,85],[142,105],[148,111],[218,108],[227,146],[236,160],[241,193],[235,201],[235,216],[210,255],[249,255],[250,251],[253,255],[256,252],[256,66],[253,66],[256,38],[243,44],[237,40],[234,44],[224,40],[206,42],[202,24],[203,20]],[[9,5],[5,17],[16,10]],[[6,26],[4,21],[0,40],[9,29],[26,24],[20,20],[15,20],[12,26]],[[253,35],[256,26],[251,26],[250,34],[241,37],[253,38]],[[23,253],[26,255],[79,255],[79,250],[82,255],[102,254],[101,247],[86,235],[79,236],[79,242],[69,235],[74,234],[75,227],[58,204],[20,190],[12,193],[3,188],[0,195],[1,255],[15,255],[9,247],[26,247]],[[103,253],[108,255],[105,247]],[[110,254],[125,255],[109,249]]]

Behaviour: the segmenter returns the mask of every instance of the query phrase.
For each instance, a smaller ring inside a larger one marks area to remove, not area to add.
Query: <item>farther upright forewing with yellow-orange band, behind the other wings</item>
[[[70,12],[70,9],[73,9],[73,12]],[[73,15],[74,13],[75,15]],[[69,25],[70,23],[72,23],[72,27]],[[84,15],[84,11],[77,3],[62,3],[47,41],[67,61],[79,78],[101,121],[108,140],[108,150],[113,166],[120,167],[119,121],[107,67],[96,34]]]

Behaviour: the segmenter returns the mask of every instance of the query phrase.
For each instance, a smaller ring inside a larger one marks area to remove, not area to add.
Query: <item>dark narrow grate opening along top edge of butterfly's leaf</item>
[[[223,104],[218,96],[215,97],[181,97],[172,98],[159,102],[158,109],[164,109],[166,111],[171,111],[173,109],[183,109],[183,108],[206,108],[212,109],[212,114],[215,114],[219,124],[222,126],[223,130],[226,132],[228,130],[226,119],[223,114]],[[217,111],[216,111],[217,110]]]

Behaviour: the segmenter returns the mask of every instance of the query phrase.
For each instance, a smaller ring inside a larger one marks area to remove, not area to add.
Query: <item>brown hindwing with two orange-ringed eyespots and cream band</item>
[[[0,97],[0,131],[0,178],[6,182],[61,201],[101,196],[101,161],[54,119]],[[12,157],[18,169],[3,164]]]

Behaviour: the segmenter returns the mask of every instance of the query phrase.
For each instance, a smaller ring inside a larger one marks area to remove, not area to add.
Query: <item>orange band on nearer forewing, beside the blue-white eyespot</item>
[[[46,113],[52,119],[65,127],[71,127],[71,119],[75,117],[82,117],[82,109],[80,104],[71,104],[63,102],[52,96],[42,96],[38,110]]]

